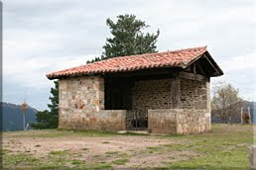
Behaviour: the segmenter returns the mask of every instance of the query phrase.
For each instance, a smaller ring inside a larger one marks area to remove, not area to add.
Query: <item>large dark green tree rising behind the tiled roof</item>
[[[103,45],[101,58],[95,57],[87,63],[116,56],[151,53],[157,51],[156,42],[159,30],[156,34],[144,33],[149,26],[145,22],[136,19],[135,15],[119,15],[116,23],[111,19],[106,20],[112,38],[107,38]]]

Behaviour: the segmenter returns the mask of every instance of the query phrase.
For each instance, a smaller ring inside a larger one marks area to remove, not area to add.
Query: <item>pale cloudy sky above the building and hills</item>
[[[160,30],[159,51],[207,45],[231,83],[256,101],[253,0],[3,0],[3,101],[47,109],[47,73],[85,64],[111,37],[106,19],[134,14]]]

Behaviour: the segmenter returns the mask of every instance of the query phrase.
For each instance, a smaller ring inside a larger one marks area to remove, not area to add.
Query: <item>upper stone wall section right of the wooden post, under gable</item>
[[[209,109],[209,82],[185,78],[180,81],[183,109]]]

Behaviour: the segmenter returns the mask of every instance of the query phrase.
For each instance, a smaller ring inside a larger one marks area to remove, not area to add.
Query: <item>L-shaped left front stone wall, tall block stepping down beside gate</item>
[[[84,76],[60,80],[59,127],[126,129],[126,111],[104,111],[104,79]]]

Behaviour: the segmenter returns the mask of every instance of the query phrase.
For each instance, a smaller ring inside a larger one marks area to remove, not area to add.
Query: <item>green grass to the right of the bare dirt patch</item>
[[[252,127],[215,125],[212,131],[185,135],[185,144],[165,145],[174,150],[191,149],[202,156],[171,162],[172,169],[248,169],[248,148],[253,143]],[[239,134],[238,134],[239,133]]]

